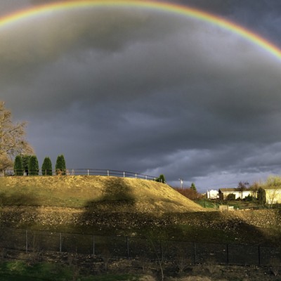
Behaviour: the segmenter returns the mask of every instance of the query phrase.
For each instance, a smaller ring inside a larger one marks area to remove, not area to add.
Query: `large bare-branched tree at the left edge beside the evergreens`
[[[12,159],[20,153],[30,154],[31,146],[25,141],[25,122],[12,122],[10,110],[0,101],[0,169],[4,171],[13,166]]]

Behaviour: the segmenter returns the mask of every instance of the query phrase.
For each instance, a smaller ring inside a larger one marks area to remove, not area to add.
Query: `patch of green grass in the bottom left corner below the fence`
[[[55,263],[36,263],[28,265],[24,261],[0,263],[1,281],[69,281],[74,280],[74,268]],[[78,275],[80,281],[137,281],[138,277],[129,274]]]

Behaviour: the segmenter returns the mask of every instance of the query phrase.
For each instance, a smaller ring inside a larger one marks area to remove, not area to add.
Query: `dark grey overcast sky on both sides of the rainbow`
[[[1,0],[2,16],[44,0]],[[170,1],[171,3],[172,1]],[[280,0],[183,0],[281,47]],[[88,8],[0,28],[1,100],[39,165],[115,169],[197,190],[281,170],[281,60],[215,25]]]

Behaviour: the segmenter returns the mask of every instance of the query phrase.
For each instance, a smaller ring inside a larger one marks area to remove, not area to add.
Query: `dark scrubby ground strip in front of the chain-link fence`
[[[169,265],[166,264],[164,276],[159,275],[155,263],[147,264],[145,268],[134,268],[132,263],[112,261],[109,267],[106,273],[95,274],[89,273],[89,269],[85,271],[69,264],[4,261],[0,263],[0,276],[1,281],[280,281],[281,277],[279,266],[197,264],[186,265],[179,272],[169,271]]]

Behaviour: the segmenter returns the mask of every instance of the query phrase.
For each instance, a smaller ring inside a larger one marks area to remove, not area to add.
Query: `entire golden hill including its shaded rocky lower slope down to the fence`
[[[280,210],[207,211],[169,185],[112,176],[1,177],[0,226],[196,242],[281,242]]]

